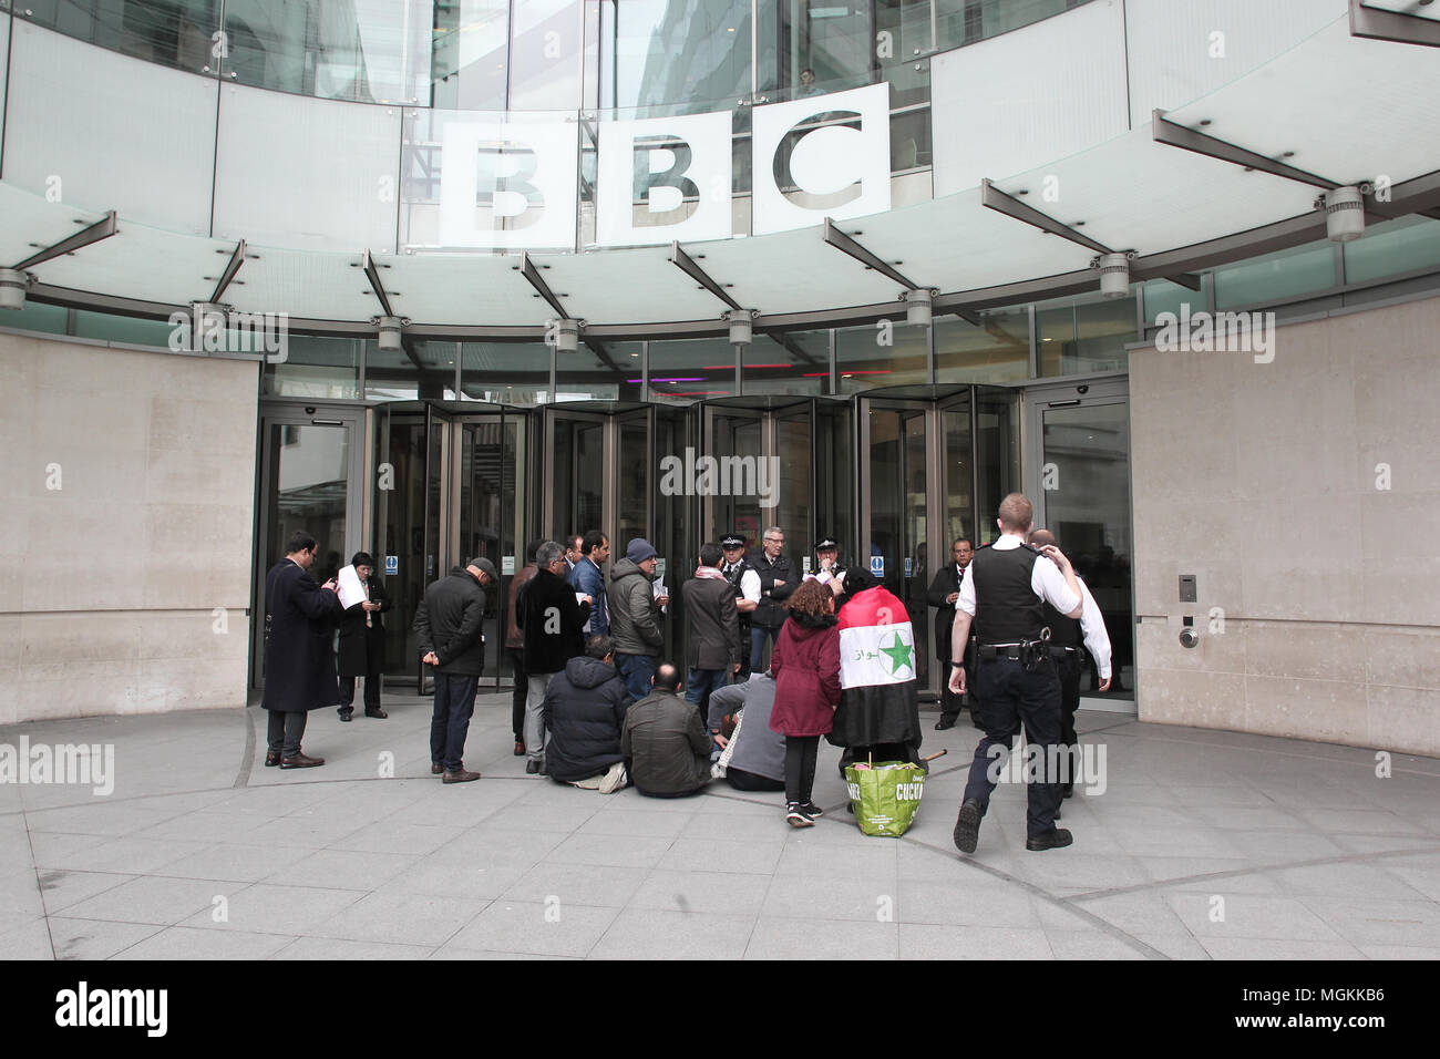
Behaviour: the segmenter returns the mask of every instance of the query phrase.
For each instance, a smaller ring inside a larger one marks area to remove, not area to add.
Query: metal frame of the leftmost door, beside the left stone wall
[[[255,438],[255,532],[251,537],[251,644],[246,682],[249,689],[264,686],[261,669],[265,658],[265,535],[271,523],[271,428],[272,426],[325,426],[347,432],[346,457],[346,542],[344,552],[353,553],[364,546],[364,481],[367,432],[364,405],[337,405],[305,402],[302,399],[265,399],[259,402]]]

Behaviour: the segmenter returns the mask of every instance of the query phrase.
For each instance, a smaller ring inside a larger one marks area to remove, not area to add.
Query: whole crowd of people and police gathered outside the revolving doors
[[[968,537],[953,542],[952,562],[927,595],[937,612],[935,656],[949,677],[936,728],[950,728],[968,706],[985,733],[956,823],[962,852],[973,852],[994,792],[995,748],[1009,749],[1022,728],[1041,748],[1074,746],[1084,648],[1102,682],[1110,677],[1094,599],[1054,536],[1031,526],[1028,501],[1007,497],[996,526],[999,537],[985,548]],[[681,667],[667,660],[670,598],[648,540],[629,540],[608,578],[611,542],[600,530],[533,542],[510,579],[504,635],[514,673],[514,754],[526,758],[526,772],[602,794],[629,785],[655,798],[693,795],[720,781],[739,791],[783,791],[786,821],[809,827],[822,813],[814,803],[821,738],[842,748],[842,775],[865,759],[920,764],[919,645],[883,643],[891,609],[903,615],[900,601],[868,571],[842,566],[834,537],[815,542],[805,573],[785,558],[779,526],[759,543],[747,553],[744,537],[727,535],[700,549],[694,575],[681,585]],[[305,716],[338,702],[350,720],[357,677],[364,679],[366,716],[386,716],[373,645],[383,638],[390,602],[372,576],[374,563],[363,552],[354,556],[364,598],[341,609],[336,581],[308,576],[314,555],[314,537],[295,533],[266,579],[265,764],[281,768],[324,764],[301,751]],[[435,679],[431,771],[446,784],[480,779],[465,768],[464,752],[485,667],[487,589],[498,581],[494,565],[475,558],[433,582],[416,609],[418,648]],[[334,625],[344,683],[330,648]],[[888,669],[876,669],[881,654]],[[1054,820],[1071,788],[1073,777],[1041,775],[1030,785],[1030,849],[1068,844]]]

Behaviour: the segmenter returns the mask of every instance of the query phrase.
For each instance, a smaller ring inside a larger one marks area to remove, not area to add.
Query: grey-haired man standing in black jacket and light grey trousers
[[[590,618],[590,598],[576,602],[575,586],[564,579],[564,552],[546,540],[536,549],[536,575],[526,582],[516,599],[516,622],[524,637],[526,694],[526,772],[543,769],[544,696],[550,679],[564,669],[583,643],[582,630]]]

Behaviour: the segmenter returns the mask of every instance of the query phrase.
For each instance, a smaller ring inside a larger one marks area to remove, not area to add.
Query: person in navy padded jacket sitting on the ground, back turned
[[[625,785],[621,732],[629,693],[615,669],[609,637],[590,637],[585,654],[554,674],[544,696],[544,726],[550,733],[546,765],[562,784],[613,794]]]

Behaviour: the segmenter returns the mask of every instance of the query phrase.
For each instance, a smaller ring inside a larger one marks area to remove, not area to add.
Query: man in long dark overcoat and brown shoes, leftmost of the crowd
[[[308,571],[315,562],[315,539],[295,530],[285,558],[265,575],[265,694],[269,710],[265,767],[317,768],[324,758],[301,752],[310,710],[340,702],[336,656],[330,635],[340,615],[336,582],[317,585]]]

